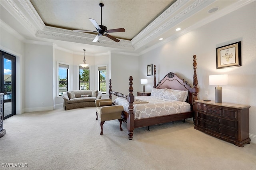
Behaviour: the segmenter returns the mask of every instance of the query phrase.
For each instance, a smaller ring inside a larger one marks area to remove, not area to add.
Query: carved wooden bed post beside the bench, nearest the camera
[[[127,96],[127,101],[129,102],[128,110],[128,118],[127,118],[127,128],[128,128],[128,136],[129,139],[132,140],[133,130],[134,130],[134,113],[133,113],[133,102],[134,102],[134,95],[133,95],[133,87],[132,87],[132,76],[129,77],[129,95]]]

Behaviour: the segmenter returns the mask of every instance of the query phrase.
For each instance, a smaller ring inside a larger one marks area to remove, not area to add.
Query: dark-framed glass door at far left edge
[[[4,93],[4,119],[16,114],[15,56],[1,51],[0,92]]]

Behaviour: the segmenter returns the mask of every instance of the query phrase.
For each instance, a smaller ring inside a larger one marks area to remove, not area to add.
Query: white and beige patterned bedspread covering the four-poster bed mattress
[[[135,101],[139,104],[134,104],[134,119],[144,119],[149,117],[159,117],[163,115],[172,115],[176,113],[185,113],[190,111],[190,104],[186,102],[174,101],[153,96],[136,96]],[[145,101],[145,102],[143,102]],[[147,102],[147,103],[146,103]],[[114,100],[116,105],[122,105],[124,111],[128,113],[128,101],[118,97]]]

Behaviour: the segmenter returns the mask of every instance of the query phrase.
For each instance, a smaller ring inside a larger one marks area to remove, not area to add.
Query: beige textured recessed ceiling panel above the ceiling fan
[[[116,38],[132,40],[166,10],[174,0],[30,0],[46,26],[68,30],[93,30],[89,18],[108,29],[125,28],[111,33]]]

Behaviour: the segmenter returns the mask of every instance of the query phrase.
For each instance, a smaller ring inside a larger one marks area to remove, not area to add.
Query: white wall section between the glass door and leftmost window
[[[53,47],[25,45],[25,112],[52,110]]]

